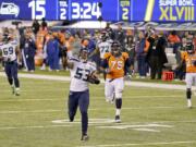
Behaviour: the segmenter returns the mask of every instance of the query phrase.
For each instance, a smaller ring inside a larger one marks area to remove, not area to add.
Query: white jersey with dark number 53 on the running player
[[[74,64],[71,72],[71,91],[85,91],[88,89],[87,76],[96,71],[96,65],[91,62],[83,62],[78,59],[70,59],[70,62]]]

